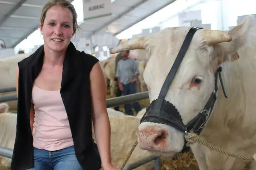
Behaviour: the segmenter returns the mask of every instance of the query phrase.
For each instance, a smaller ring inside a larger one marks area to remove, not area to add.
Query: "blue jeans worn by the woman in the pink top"
[[[34,167],[27,170],[83,170],[75,156],[74,146],[58,151],[34,147]]]

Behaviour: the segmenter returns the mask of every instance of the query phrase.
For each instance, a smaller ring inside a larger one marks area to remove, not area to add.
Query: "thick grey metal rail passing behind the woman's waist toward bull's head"
[[[118,106],[121,104],[132,103],[143,99],[148,99],[148,91],[107,99],[107,108]],[[0,96],[0,102],[12,100],[17,100],[16,94]]]

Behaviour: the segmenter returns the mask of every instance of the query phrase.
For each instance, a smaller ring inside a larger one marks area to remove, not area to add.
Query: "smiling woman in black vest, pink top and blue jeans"
[[[98,170],[100,161],[104,170],[117,170],[110,158],[105,79],[99,60],[71,42],[76,19],[68,0],[48,1],[39,24],[44,45],[18,63],[11,170]]]

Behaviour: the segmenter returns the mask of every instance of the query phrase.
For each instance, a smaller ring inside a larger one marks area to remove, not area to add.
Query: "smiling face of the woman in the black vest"
[[[46,12],[44,25],[39,24],[39,28],[44,36],[45,48],[62,52],[68,47],[75,34],[72,12],[59,5],[52,6]]]

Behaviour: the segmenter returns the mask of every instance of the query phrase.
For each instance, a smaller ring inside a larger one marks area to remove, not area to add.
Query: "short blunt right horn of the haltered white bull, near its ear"
[[[204,30],[204,39],[207,45],[232,41],[232,37],[225,31]]]

